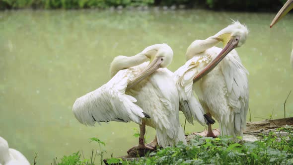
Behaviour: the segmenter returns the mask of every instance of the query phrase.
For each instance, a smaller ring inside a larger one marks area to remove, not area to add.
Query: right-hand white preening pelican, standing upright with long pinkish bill
[[[233,49],[247,35],[246,26],[236,21],[206,40],[195,40],[187,48],[188,61],[174,73],[177,87],[188,95],[195,91],[206,113],[220,123],[220,132],[233,137],[242,136],[248,109],[248,72]],[[215,47],[219,42],[223,49]],[[210,124],[207,136],[215,137]]]

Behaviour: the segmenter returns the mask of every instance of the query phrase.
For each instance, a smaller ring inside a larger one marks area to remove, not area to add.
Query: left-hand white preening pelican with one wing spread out
[[[132,57],[116,57],[110,68],[113,78],[74,102],[76,119],[89,126],[109,121],[140,124],[139,145],[133,149],[153,150],[156,143],[162,147],[186,143],[179,124],[178,91],[165,68],[172,58],[167,44],[149,46]],[[146,125],[156,130],[154,146],[145,145]]]

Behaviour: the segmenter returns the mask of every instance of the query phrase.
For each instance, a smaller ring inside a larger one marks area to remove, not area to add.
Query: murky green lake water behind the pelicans
[[[126,155],[138,143],[133,136],[138,125],[110,122],[85,127],[73,116],[74,100],[110,79],[115,56],[132,56],[152,44],[172,47],[168,69],[175,71],[185,63],[192,41],[216,34],[231,19],[246,23],[250,30],[237,51],[250,73],[251,120],[269,118],[272,111],[273,118],[281,118],[283,102],[293,89],[293,15],[270,29],[274,15],[207,10],[1,11],[0,136],[30,163],[38,153],[37,165],[50,165],[53,158],[76,151],[89,158],[98,147],[89,143],[91,137],[106,143],[106,157]],[[293,116],[293,95],[286,108],[287,116]],[[184,123],[182,113],[180,119]],[[186,127],[187,132],[203,129],[199,124]],[[148,128],[147,140],[153,136]]]

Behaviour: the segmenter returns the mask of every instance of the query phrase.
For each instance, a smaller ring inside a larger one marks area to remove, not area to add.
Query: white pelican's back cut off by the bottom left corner
[[[27,159],[14,149],[9,149],[5,139],[0,137],[0,165],[30,165]]]

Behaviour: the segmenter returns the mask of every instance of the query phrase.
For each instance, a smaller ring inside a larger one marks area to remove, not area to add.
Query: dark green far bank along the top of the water
[[[286,0],[0,0],[0,9],[78,9],[127,6],[178,6],[202,7],[223,10],[277,10]]]

